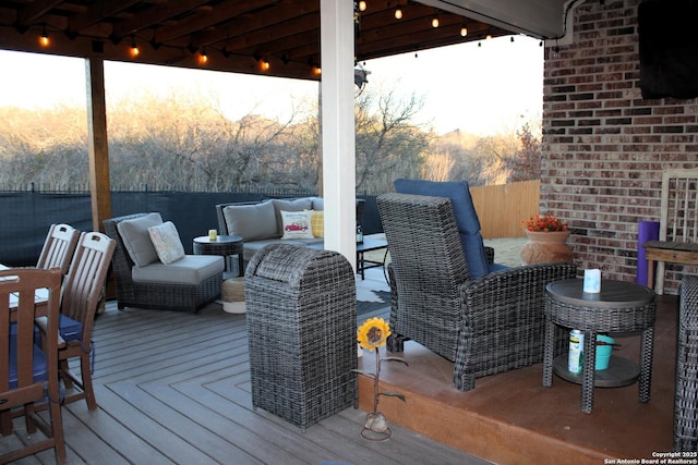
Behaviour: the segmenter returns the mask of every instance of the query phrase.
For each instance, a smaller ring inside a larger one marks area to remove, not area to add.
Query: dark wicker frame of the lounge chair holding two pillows
[[[134,213],[111,218],[104,221],[107,235],[117,241],[111,265],[117,284],[119,309],[125,307],[153,308],[161,310],[196,311],[204,305],[214,302],[220,295],[222,271],[197,285],[172,283],[140,283],[133,281],[131,268],[134,266],[129,256],[117,224],[123,220],[143,217]]]

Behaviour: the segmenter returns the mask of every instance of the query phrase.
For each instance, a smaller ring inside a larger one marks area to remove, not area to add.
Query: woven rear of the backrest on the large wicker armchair
[[[399,298],[392,328],[455,360],[464,313],[458,287],[469,273],[450,200],[385,194],[377,201]]]

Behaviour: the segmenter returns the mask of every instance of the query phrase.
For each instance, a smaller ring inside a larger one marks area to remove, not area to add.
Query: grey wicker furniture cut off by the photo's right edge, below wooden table
[[[681,284],[674,393],[674,451],[698,449],[698,277]]]

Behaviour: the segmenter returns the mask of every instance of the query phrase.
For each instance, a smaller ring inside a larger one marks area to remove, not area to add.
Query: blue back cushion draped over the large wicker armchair
[[[395,192],[398,194],[429,195],[450,199],[471,279],[483,277],[490,271],[502,267],[498,265],[491,270],[491,265],[488,262],[482,235],[480,234],[480,219],[470,196],[470,187],[466,181],[435,182],[399,179],[395,180]]]

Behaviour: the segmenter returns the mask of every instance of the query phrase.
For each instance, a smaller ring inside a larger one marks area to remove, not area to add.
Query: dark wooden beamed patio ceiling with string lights
[[[365,3],[358,62],[514,34],[411,0]],[[0,1],[0,49],[317,79],[320,0]]]

